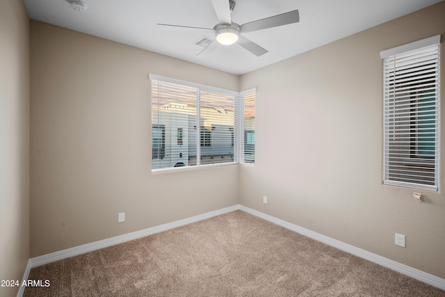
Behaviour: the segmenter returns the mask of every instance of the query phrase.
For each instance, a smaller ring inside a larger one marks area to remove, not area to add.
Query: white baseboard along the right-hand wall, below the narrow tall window
[[[372,252],[368,252],[366,250],[362,250],[361,248],[356,248],[355,246],[351,246],[348,243],[344,243],[342,241],[338,241],[337,239],[332,239],[323,234],[319,234],[308,230],[306,228],[300,227],[298,225],[294,225],[292,223],[286,222],[285,220],[281,220],[280,218],[275,218],[274,216],[269,216],[268,214],[264,214],[260,211],[256,211],[254,209],[250,209],[249,207],[240,206],[242,211],[247,212],[248,214],[252,214],[259,218],[263,218],[264,220],[268,220],[271,223],[275,223],[286,229],[289,229],[293,232],[297,232],[309,238],[315,239],[316,241],[321,241],[322,243],[326,243],[329,246],[333,246],[334,248],[338,248],[339,250],[343,250],[345,252],[350,253],[351,255],[355,255],[362,259],[366,259],[370,262],[378,264],[380,266],[384,266],[393,271],[397,271],[404,275],[410,276],[416,280],[420,280],[421,282],[425,282],[426,284],[430,284],[432,287],[436,287],[438,289],[445,291],[445,280],[443,278],[437,278],[437,276],[420,271],[416,268],[412,268],[410,266],[406,266],[405,264],[401,264],[395,262],[393,260],[387,259],[385,257],[381,257],[379,255],[375,255]]]

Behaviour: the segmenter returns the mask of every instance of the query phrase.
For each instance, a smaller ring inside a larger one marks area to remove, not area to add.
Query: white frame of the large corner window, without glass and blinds
[[[243,92],[236,92],[233,90],[226,90],[223,88],[216,88],[216,87],[212,87],[212,86],[206,86],[206,85],[202,85],[199,83],[192,83],[189,81],[182,81],[179,79],[172,79],[169,77],[161,77],[159,75],[155,75],[155,74],[149,74],[149,80],[150,81],[161,81],[161,82],[165,82],[165,83],[175,83],[177,85],[180,86],[186,86],[186,87],[191,87],[191,88],[197,88],[198,89],[198,93],[200,92],[200,89],[203,90],[210,90],[210,91],[215,91],[218,93],[224,93],[227,95],[233,95],[234,96],[234,128],[233,128],[233,147],[234,147],[234,161],[229,161],[229,162],[223,162],[223,163],[211,163],[211,164],[200,164],[199,162],[199,156],[200,156],[200,150],[202,150],[202,146],[201,146],[201,129],[202,131],[207,131],[207,127],[200,127],[199,123],[196,123],[195,127],[199,127],[197,129],[197,134],[196,134],[196,138],[197,138],[197,164],[193,165],[193,166],[184,166],[184,167],[166,167],[166,168],[153,168],[152,165],[152,172],[156,173],[156,172],[170,172],[170,171],[176,171],[176,170],[191,170],[191,169],[195,169],[195,168],[203,168],[203,167],[216,167],[216,166],[229,166],[229,165],[237,165],[239,163],[241,163],[240,160],[243,160],[243,154],[244,151],[241,150],[241,147],[243,147],[243,141],[244,141],[244,131],[241,130],[243,129],[244,125],[244,109],[243,109],[243,96],[247,93],[252,93],[252,92],[256,92],[256,88],[252,88],[250,90],[246,90]],[[197,95],[197,106],[200,105],[200,99],[199,99],[199,95]],[[150,107],[152,106],[153,102],[152,102],[152,93],[150,93]],[[200,118],[200,109],[197,108],[197,119]],[[157,125],[154,122],[151,122],[151,125]],[[150,129],[150,131],[152,131],[152,129]],[[205,133],[205,132],[204,132]],[[151,145],[152,147],[152,145]],[[152,147],[153,150],[153,147]],[[153,164],[153,163],[152,163]]]

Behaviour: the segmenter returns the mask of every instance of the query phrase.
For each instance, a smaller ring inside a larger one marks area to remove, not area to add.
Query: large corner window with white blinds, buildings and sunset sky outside
[[[152,170],[238,162],[244,95],[154,75],[150,80]],[[254,147],[246,150],[253,159]]]

